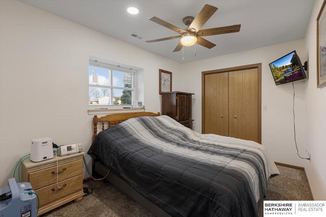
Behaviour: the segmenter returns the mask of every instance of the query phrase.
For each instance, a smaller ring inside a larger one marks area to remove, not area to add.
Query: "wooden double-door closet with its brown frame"
[[[202,133],[261,143],[261,64],[202,72]]]

